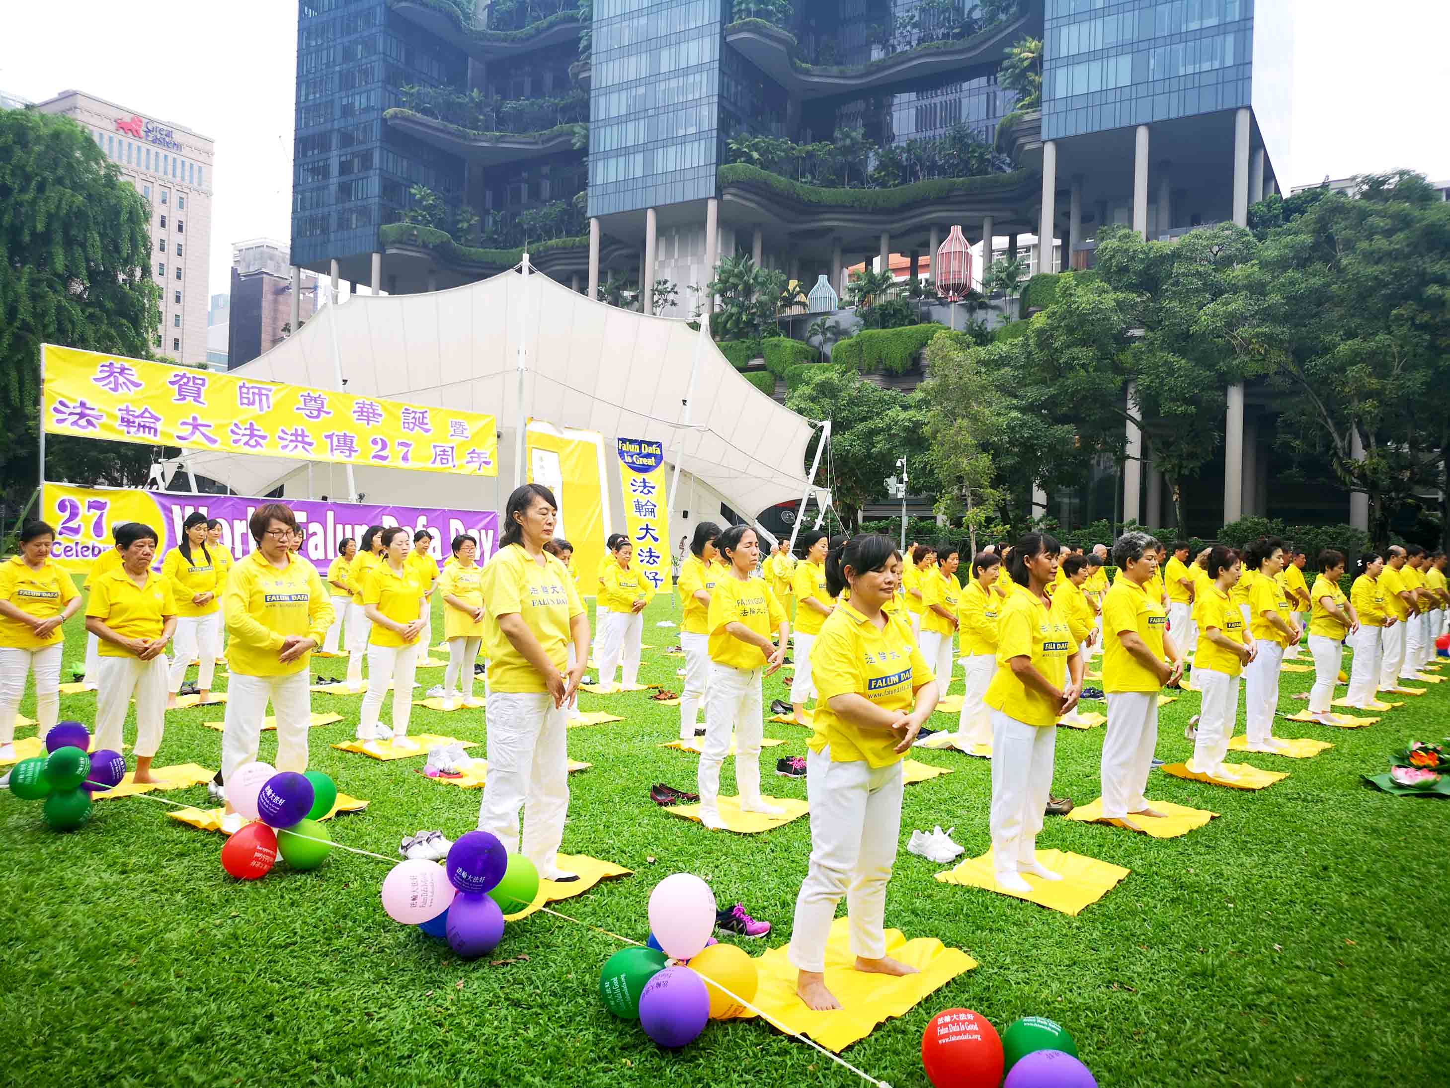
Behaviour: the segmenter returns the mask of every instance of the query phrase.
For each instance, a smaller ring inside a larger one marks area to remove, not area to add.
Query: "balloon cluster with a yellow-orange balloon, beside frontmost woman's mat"
[[[660,1046],[695,1042],[710,1020],[729,1020],[755,1000],[755,962],[718,944],[715,894],[699,876],[666,876],[650,892],[650,943],[621,949],[599,976],[599,995],[616,1017],[638,1020]]]

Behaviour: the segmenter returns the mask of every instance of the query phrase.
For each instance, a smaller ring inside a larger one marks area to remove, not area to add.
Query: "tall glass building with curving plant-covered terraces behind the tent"
[[[1032,271],[1088,267],[1105,223],[1246,223],[1280,187],[1290,19],[1288,0],[593,0],[589,22],[576,0],[303,0],[291,258],[406,293],[526,245],[592,297],[670,280],[679,318],[738,251],[842,292],[847,267],[934,255],[960,225],[1008,252],[1060,239]],[[1002,81],[1024,38],[1031,109]],[[763,136],[793,151],[763,160]],[[900,184],[863,187],[883,164]],[[1264,403],[1228,405],[1215,525],[1266,503]],[[1164,506],[1140,461],[1122,487],[1127,518]]]

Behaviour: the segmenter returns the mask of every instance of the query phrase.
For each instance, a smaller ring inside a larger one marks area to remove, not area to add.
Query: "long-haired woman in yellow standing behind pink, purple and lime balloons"
[[[478,804],[478,830],[522,853],[545,881],[571,882],[558,867],[568,817],[568,754],[564,709],[589,664],[589,612],[564,564],[544,550],[554,537],[558,502],[539,483],[515,487],[503,509],[499,550],[483,569],[487,618],[489,788]],[[564,672],[567,646],[574,664]]]

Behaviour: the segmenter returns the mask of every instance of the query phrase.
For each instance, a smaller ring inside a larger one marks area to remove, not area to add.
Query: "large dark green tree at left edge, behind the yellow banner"
[[[0,112],[0,493],[36,483],[41,344],[151,358],[151,207],[70,118]],[[55,437],[52,479],[144,485],[155,450]]]

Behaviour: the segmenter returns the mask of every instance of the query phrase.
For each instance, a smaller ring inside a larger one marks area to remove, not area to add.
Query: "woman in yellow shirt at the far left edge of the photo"
[[[36,737],[61,712],[61,625],[81,606],[75,582],[51,561],[55,529],[20,527],[20,554],[0,563],[0,760],[14,762],[14,720],[25,680],[35,673]],[[116,749],[117,751],[120,749]]]

